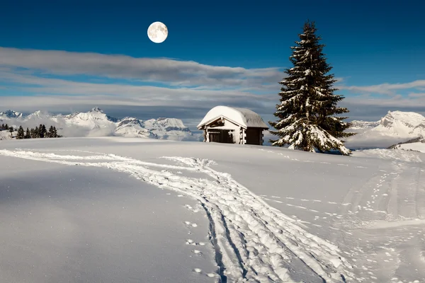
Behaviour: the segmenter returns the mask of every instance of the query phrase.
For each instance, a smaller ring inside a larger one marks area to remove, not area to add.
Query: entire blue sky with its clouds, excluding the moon
[[[2,107],[195,121],[226,104],[268,120],[310,19],[351,117],[425,111],[421,1],[150,2],[2,1]],[[169,29],[161,44],[147,38],[154,21]]]

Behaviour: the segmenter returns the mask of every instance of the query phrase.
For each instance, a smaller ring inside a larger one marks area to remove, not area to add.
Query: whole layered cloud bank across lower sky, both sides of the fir
[[[279,100],[278,81],[285,76],[282,70],[0,47],[1,105],[20,111],[55,112],[98,105],[111,112],[131,109],[134,115],[140,111],[152,117],[176,115],[195,121],[193,125],[209,108],[230,105],[251,108],[268,121],[276,119],[273,112]],[[348,80],[342,77],[337,81],[339,93],[353,94],[341,102],[351,110],[351,118],[378,120],[387,110],[425,111],[424,80],[371,86],[346,86]],[[405,90],[410,94],[401,96],[399,91]],[[6,91],[25,98],[7,96]],[[143,118],[149,118],[147,115]]]

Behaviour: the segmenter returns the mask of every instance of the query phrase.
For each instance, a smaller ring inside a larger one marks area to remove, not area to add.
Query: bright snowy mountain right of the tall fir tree
[[[378,122],[353,121],[346,146],[356,148],[387,148],[416,137],[425,137],[425,117],[416,112],[389,111]]]

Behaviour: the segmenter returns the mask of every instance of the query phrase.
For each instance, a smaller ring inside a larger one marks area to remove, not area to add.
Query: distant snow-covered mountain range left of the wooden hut
[[[117,119],[106,115],[100,108],[89,112],[75,112],[69,115],[50,115],[48,112],[36,111],[30,115],[7,110],[1,112],[0,120],[8,125],[35,127],[37,125],[54,125],[65,137],[143,137],[153,139],[199,140],[183,122],[175,118],[159,118],[142,121],[134,117]]]

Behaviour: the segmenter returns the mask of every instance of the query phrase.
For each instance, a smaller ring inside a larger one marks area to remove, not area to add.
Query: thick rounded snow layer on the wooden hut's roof
[[[205,115],[203,120],[200,121],[198,129],[208,125],[210,122],[213,122],[220,117],[225,117],[225,119],[230,122],[234,122],[245,129],[247,127],[268,129],[266,123],[256,112],[246,108],[232,108],[228,106],[215,106],[215,108],[208,111],[207,115]]]

